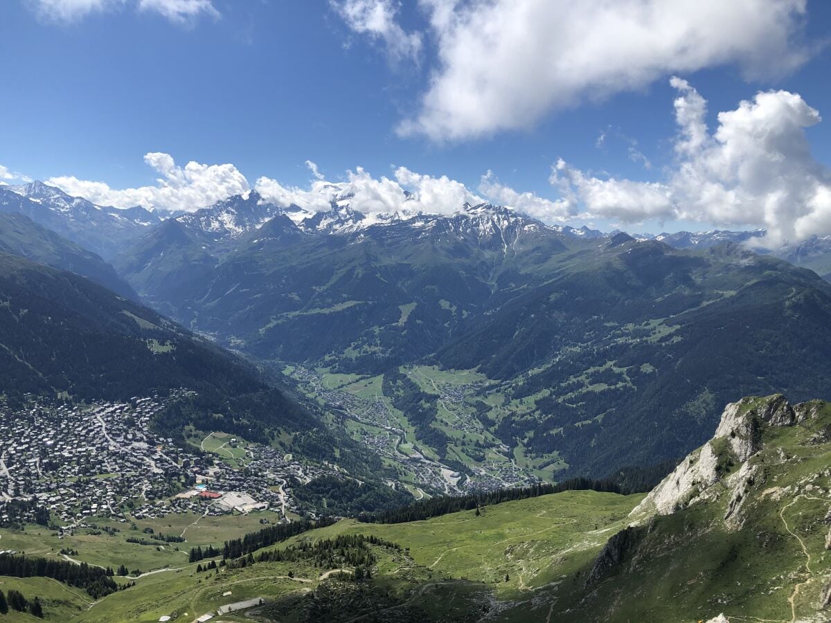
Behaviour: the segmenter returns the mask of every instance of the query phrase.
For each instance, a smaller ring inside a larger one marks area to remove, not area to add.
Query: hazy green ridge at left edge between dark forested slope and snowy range
[[[75,272],[109,288],[122,297],[138,300],[138,295],[108,263],[57,233],[34,223],[19,213],[0,213],[0,253]]]

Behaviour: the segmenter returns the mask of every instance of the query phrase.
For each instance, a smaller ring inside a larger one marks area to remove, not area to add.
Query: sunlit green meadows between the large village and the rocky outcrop
[[[438,589],[428,585],[447,586],[449,588],[445,590],[461,601],[469,593],[479,595],[477,599],[486,595],[515,600],[530,594],[532,588],[556,581],[563,573],[591,562],[607,537],[625,525],[627,513],[641,498],[640,495],[624,497],[590,491],[567,492],[484,508],[479,517],[470,511],[411,524],[375,525],[344,520],[332,527],[295,537],[278,547],[339,533],[375,534],[409,547],[409,554],[391,555],[382,548],[378,552],[375,585],[400,601],[409,599],[411,590],[419,589],[423,591],[424,600],[416,599],[416,604],[422,601],[429,604]],[[252,531],[257,527],[253,525],[254,517],[256,515],[247,518],[250,525],[224,526],[224,530],[219,525],[210,529],[208,523],[199,531],[189,529],[187,536],[189,539],[194,537],[194,542],[180,544],[180,547],[205,544],[210,542],[206,538],[209,536],[215,537],[214,543],[219,543],[234,534]],[[231,518],[205,518],[203,521],[211,519],[221,524]],[[184,518],[173,527],[168,527],[168,522],[167,518],[156,522],[155,529],[174,533],[179,524],[184,523]],[[202,522],[199,525],[203,525]],[[2,532],[4,545],[8,542],[14,547],[28,546],[27,551],[32,553],[39,543],[43,544],[40,550],[52,547],[49,537],[43,533],[29,532],[12,541],[13,534]],[[130,531],[125,531],[116,537],[71,537],[59,543],[60,547],[77,548],[80,560],[117,566],[124,560],[124,548],[130,546],[123,543],[129,534]],[[57,547],[57,539],[55,541]],[[111,552],[110,557],[107,557],[108,552]],[[82,602],[76,603],[77,621],[158,621],[160,616],[173,611],[180,615],[188,612],[189,616],[193,615],[188,620],[192,620],[225,603],[255,596],[273,599],[303,589],[311,590],[320,583],[322,571],[302,563],[269,562],[235,571],[224,570],[219,576],[213,576],[195,574],[196,566],[187,564],[180,552],[174,555],[157,552],[155,547],[141,546],[132,546],[130,552],[155,559],[150,562],[142,558],[135,565],[128,564],[130,568],[139,566],[146,571],[170,565],[176,570],[141,577],[136,580],[136,586],[107,596],[88,610],[81,610]],[[47,553],[41,552],[42,555]],[[288,576],[289,571],[295,579],[282,577]],[[509,576],[507,582],[506,574]],[[39,587],[41,593],[32,590],[26,594],[41,594],[56,600],[64,592],[63,588],[51,581],[50,584]],[[223,597],[222,593],[228,590],[234,591],[233,596]],[[57,617],[57,611],[51,606],[47,606],[47,615],[66,621],[66,617]],[[233,616],[225,618],[243,620]]]

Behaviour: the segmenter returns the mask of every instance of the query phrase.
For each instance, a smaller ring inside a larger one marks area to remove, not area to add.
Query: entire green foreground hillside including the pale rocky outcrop
[[[646,498],[571,491],[419,522],[342,520],[216,571],[181,562],[88,609],[63,607],[75,621],[157,621],[236,603],[264,621],[827,621],[829,431],[829,403],[743,399]],[[224,521],[189,540],[221,545]],[[44,538],[2,537],[16,547]],[[63,545],[115,566],[122,540]],[[144,565],[170,561],[145,553]],[[225,617],[245,621],[243,611]]]

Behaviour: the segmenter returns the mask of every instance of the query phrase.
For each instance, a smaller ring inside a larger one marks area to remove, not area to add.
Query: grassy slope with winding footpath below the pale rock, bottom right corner
[[[743,522],[723,521],[730,481],[716,483],[711,499],[656,518],[593,591],[565,586],[551,621],[568,621],[572,608],[587,621],[701,621],[721,612],[739,621],[828,621],[818,607],[831,579],[831,444],[806,444],[831,424],[822,405],[816,419],[765,429],[765,449],[749,460],[760,471],[746,484]]]

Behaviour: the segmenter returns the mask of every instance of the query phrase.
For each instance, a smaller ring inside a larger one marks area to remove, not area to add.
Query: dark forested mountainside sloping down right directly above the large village
[[[250,366],[71,272],[0,255],[0,300],[0,385],[9,398],[130,400],[187,388],[209,410],[199,417],[213,411],[224,424],[209,425],[229,432],[314,425]]]

